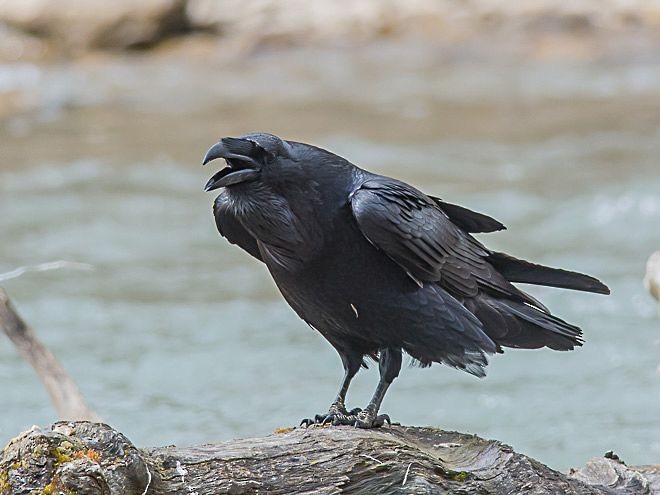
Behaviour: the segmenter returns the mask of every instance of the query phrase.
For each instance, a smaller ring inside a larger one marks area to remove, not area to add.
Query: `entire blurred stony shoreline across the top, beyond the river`
[[[0,61],[95,51],[190,50],[416,39],[454,56],[656,56],[660,0],[5,0]],[[208,53],[207,50],[191,50]]]

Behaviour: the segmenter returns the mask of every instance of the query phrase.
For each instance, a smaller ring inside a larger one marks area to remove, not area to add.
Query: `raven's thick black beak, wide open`
[[[206,152],[202,165],[206,165],[216,158],[224,158],[227,166],[209,179],[204,187],[205,191],[213,191],[219,187],[253,181],[259,177],[261,164],[251,156],[241,154],[241,151],[245,149],[245,146],[240,143],[241,141],[252,144],[247,140],[224,138],[219,143],[211,146]]]

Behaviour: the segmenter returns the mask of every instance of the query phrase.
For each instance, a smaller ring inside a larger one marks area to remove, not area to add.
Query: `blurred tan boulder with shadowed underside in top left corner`
[[[187,27],[185,0],[4,0],[0,23],[74,53],[148,46]]]

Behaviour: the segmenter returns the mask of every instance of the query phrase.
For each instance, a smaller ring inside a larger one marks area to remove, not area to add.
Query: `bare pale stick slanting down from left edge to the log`
[[[3,289],[0,289],[0,328],[37,372],[60,419],[99,419],[86,404],[71,376],[18,315]]]

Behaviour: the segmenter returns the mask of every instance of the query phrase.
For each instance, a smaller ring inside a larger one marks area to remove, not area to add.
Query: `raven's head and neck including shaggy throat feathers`
[[[241,228],[287,266],[319,248],[320,226],[332,221],[333,210],[325,205],[346,203],[355,169],[321,148],[262,133],[220,139],[203,163],[216,158],[227,166],[204,188],[222,188],[214,203],[216,222],[222,223],[218,215],[240,219]]]

